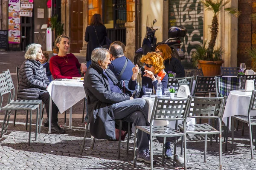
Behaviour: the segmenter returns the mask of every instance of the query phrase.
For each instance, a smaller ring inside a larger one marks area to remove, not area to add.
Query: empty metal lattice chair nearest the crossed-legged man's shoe
[[[166,137],[175,137],[175,144],[174,144],[174,154],[176,154],[177,148],[177,137],[183,136],[184,141],[184,168],[186,170],[186,118],[189,110],[190,105],[189,99],[162,99],[162,98],[155,98],[154,107],[150,119],[150,126],[136,126],[135,127],[135,134],[134,134],[134,168],[136,167],[136,160],[137,160],[137,131],[142,130],[145,133],[150,135],[150,163],[151,163],[151,170],[153,170],[153,136],[164,137],[163,139],[163,151],[162,151],[162,165],[164,160],[164,152],[165,152],[165,143]],[[168,125],[162,126],[153,126],[154,120],[167,120],[167,121],[175,121],[175,129],[172,129]],[[177,130],[178,121],[183,121],[183,126],[185,127],[183,132]]]

